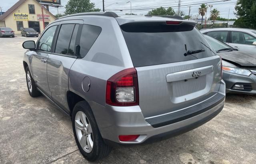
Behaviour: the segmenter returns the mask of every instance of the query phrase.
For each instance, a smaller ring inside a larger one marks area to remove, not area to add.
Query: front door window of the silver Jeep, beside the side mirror
[[[52,26],[47,29],[43,36],[38,41],[38,49],[42,51],[51,51],[52,40],[57,26]]]

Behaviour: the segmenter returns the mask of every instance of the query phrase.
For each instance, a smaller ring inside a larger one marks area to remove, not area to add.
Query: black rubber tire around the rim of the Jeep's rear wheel
[[[85,152],[78,141],[76,128],[75,128],[75,117],[78,111],[82,111],[86,115],[92,127],[93,147],[90,153]],[[84,158],[86,158],[88,161],[100,160],[108,156],[108,154],[111,152],[112,148],[106,145],[105,142],[103,141],[100,131],[98,129],[98,125],[92,113],[92,109],[90,108],[90,106],[86,101],[80,101],[75,105],[72,112],[72,127],[73,127],[74,137],[75,137],[78,149],[80,150]]]

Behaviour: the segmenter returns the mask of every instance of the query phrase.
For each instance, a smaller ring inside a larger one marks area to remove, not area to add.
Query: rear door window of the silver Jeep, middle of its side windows
[[[58,34],[55,53],[68,54],[68,47],[75,24],[62,24]]]

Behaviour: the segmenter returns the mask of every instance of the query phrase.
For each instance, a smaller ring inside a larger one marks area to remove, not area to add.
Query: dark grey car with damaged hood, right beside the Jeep
[[[256,52],[238,51],[210,36],[205,38],[222,57],[226,93],[256,94]]]

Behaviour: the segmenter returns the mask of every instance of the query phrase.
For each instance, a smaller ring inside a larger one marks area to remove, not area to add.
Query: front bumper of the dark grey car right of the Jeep
[[[251,74],[250,76],[238,75],[235,73],[230,73],[223,71],[222,78],[226,83],[226,93],[235,93],[235,94],[256,94],[256,75]],[[232,87],[236,83],[244,83],[252,86],[252,91],[240,91],[234,90]]]

